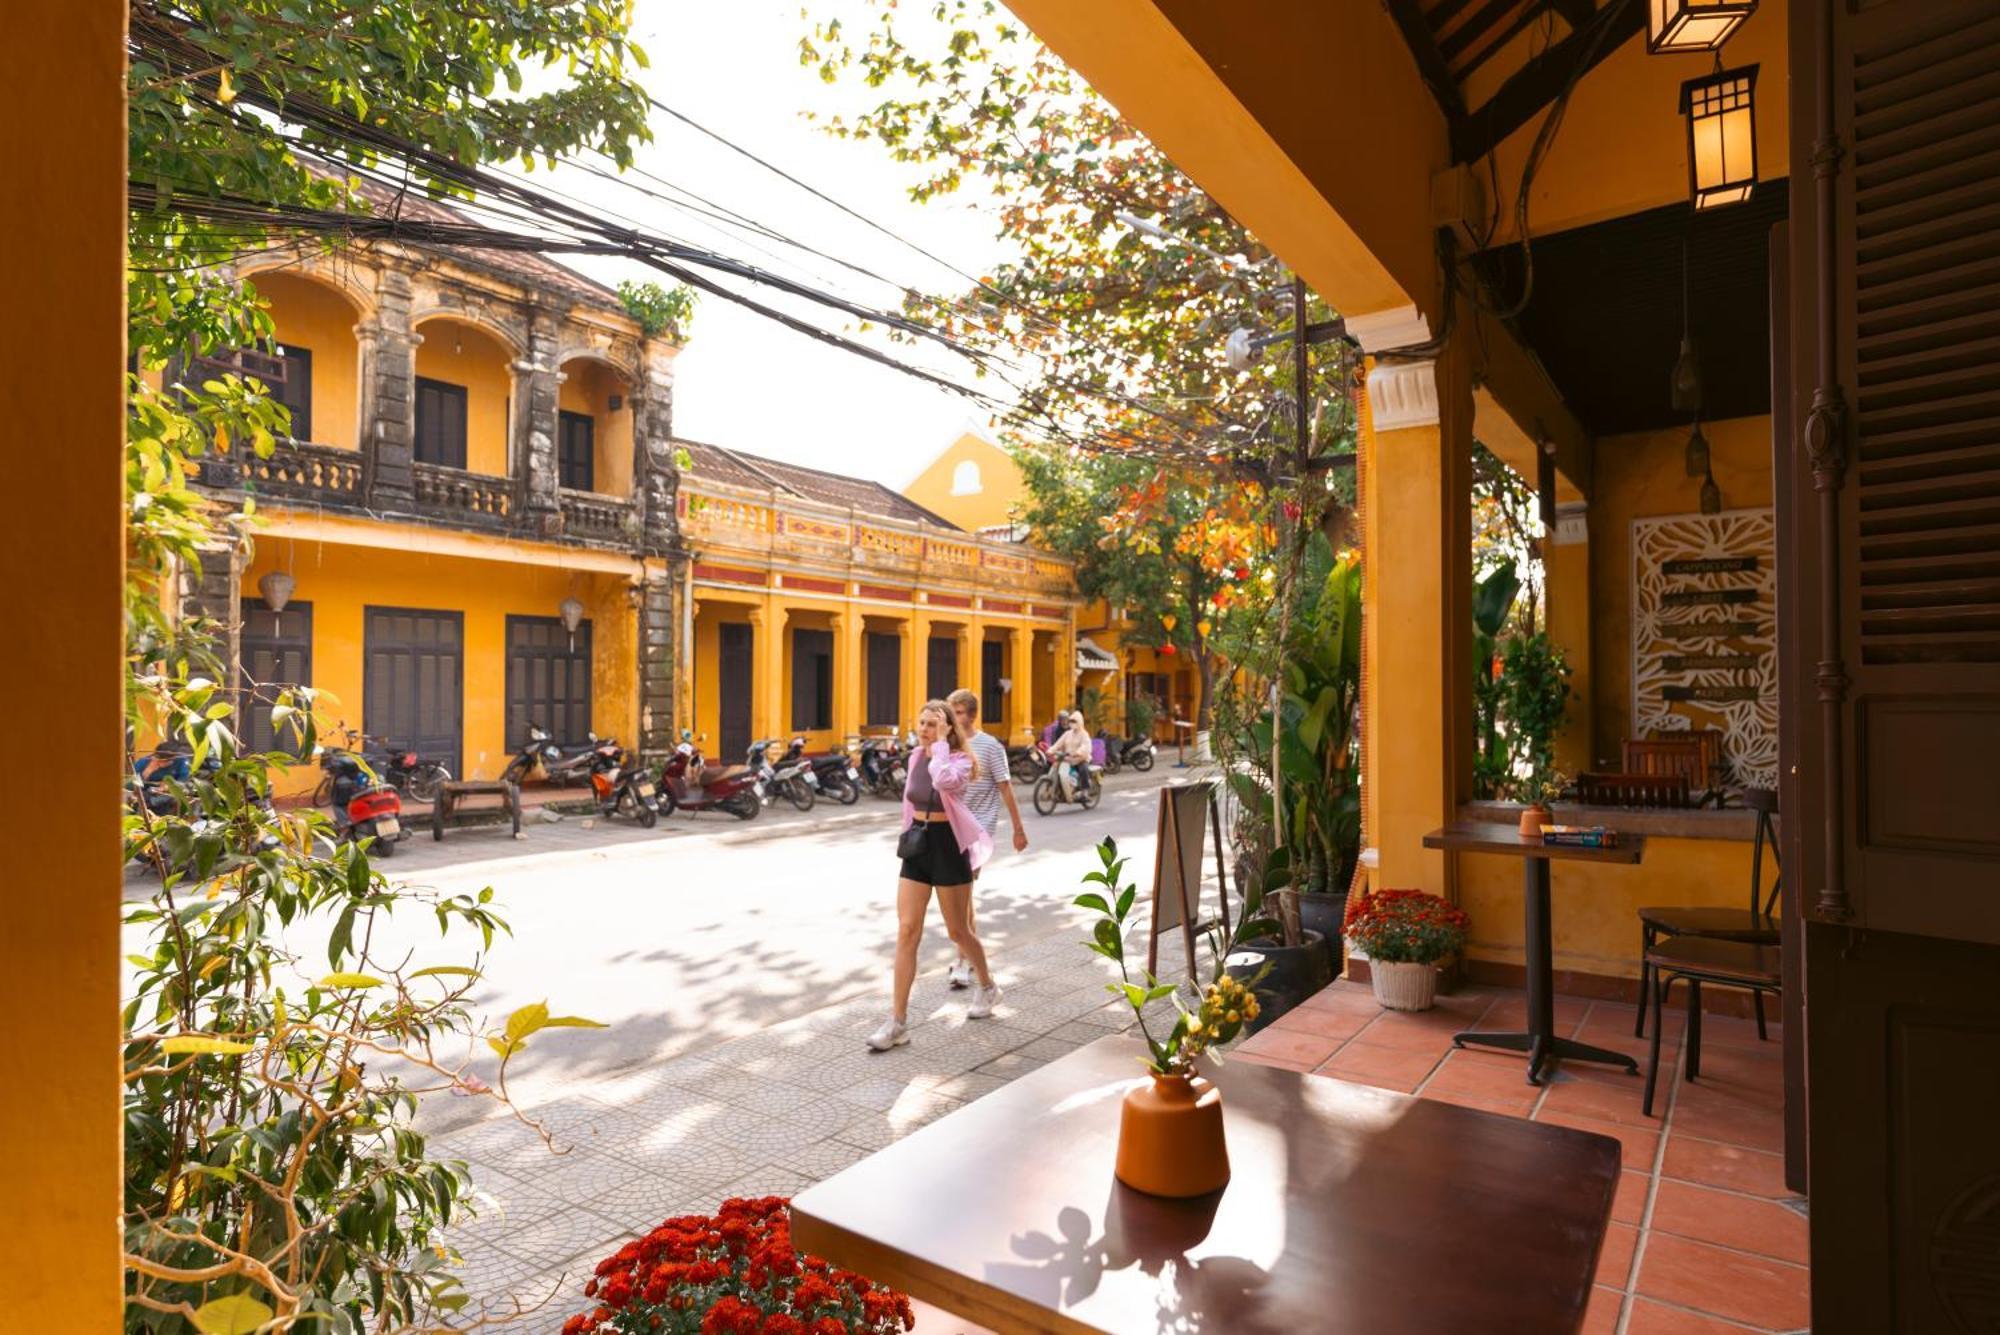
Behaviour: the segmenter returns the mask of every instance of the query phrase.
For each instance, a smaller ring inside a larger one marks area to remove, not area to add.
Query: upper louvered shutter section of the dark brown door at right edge
[[[1838,488],[1824,644],[1852,785],[1844,865],[1808,911],[2000,941],[2000,12],[1904,0],[1834,22],[1830,332],[1852,430],[1814,476]]]

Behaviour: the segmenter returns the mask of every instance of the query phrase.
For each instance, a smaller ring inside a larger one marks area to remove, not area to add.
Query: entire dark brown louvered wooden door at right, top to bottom
[[[2000,4],[1790,22],[1812,1329],[1972,1335],[2000,1329]]]

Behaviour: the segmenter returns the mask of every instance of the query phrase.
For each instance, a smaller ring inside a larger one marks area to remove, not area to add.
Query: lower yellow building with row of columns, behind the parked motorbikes
[[[682,448],[692,654],[680,699],[710,755],[902,731],[924,699],[960,685],[980,691],[990,731],[1018,741],[1074,699],[1068,562],[970,534],[874,482]]]

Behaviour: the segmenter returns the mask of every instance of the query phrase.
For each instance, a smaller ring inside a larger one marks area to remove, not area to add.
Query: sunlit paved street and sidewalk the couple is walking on
[[[944,985],[942,921],[912,995],[912,1041],[868,1053],[888,1013],[898,807],[864,797],[810,815],[774,807],[752,823],[678,815],[532,821],[404,841],[386,871],[442,891],[492,885],[512,935],[494,941],[476,1009],[530,1001],[608,1029],[536,1035],[510,1093],[556,1153],[486,1099],[432,1097],[434,1149],[472,1163],[482,1217],[454,1229],[480,1301],[554,1303],[530,1329],[578,1305],[582,1273],[632,1231],[726,1195],[792,1193],[1072,1047],[1130,1025],[1108,1005],[1104,961],[1082,947],[1070,905],[1106,833],[1150,887],[1156,789],[1176,773],[1124,773],[1094,811],[1036,815],[1030,847],[1000,847],[978,891],[980,935],[1006,997],[964,1017]],[[396,927],[426,963],[428,917]],[[400,945],[402,941],[398,941]],[[1162,949],[1166,963],[1178,951]],[[482,1051],[484,1057],[484,1051]],[[476,1063],[484,1075],[490,1061]]]

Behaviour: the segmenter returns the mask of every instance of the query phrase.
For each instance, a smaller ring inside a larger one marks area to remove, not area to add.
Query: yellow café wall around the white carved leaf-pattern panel
[[[1770,418],[1704,422],[1724,510],[1770,504]],[[1592,731],[1600,763],[1618,761],[1632,735],[1632,520],[1700,510],[1702,480],[1688,478],[1686,428],[1598,440],[1598,490],[1590,502]]]

